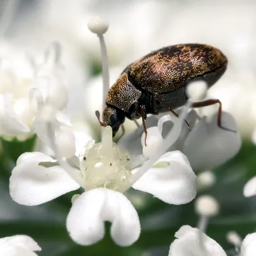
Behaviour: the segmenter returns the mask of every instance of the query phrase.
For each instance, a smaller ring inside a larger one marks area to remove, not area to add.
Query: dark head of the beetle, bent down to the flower
[[[105,126],[109,125],[112,127],[114,137],[120,125],[124,123],[124,111],[117,108],[106,107],[103,111],[102,119]]]

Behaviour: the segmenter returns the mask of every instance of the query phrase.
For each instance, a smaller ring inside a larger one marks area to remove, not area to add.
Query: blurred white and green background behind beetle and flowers
[[[1,15],[6,3],[8,0],[0,1]],[[160,47],[200,43],[219,48],[228,58],[228,70],[208,94],[220,99],[223,109],[236,118],[243,147],[234,159],[213,170],[214,186],[198,193],[210,193],[220,202],[221,213],[212,218],[207,234],[231,255],[234,250],[226,233],[236,230],[244,237],[256,230],[256,199],[243,197],[244,184],[256,175],[255,13],[254,0],[17,0],[13,19],[0,35],[0,55],[15,54],[15,49],[42,58],[50,42],[60,42],[61,62],[69,80],[68,115],[97,138],[100,128],[94,113],[102,109],[101,60],[97,36],[87,28],[91,17],[99,15],[109,21],[105,38],[111,84],[129,63]],[[203,114],[211,111],[202,109]],[[20,147],[15,143],[4,147]],[[29,150],[31,143],[25,144]],[[167,205],[145,193],[129,191],[127,196],[141,220],[138,242],[119,248],[107,236],[93,246],[77,246],[65,228],[71,193],[38,207],[12,202],[8,192],[12,169],[3,164],[4,147],[0,158],[0,237],[28,234],[43,248],[38,255],[168,255],[175,232],[182,225],[197,225],[193,202]]]

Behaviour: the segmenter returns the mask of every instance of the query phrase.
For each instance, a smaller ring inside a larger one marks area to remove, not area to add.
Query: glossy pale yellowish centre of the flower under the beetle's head
[[[112,141],[112,129],[106,127],[102,142],[86,144],[81,171],[86,190],[108,188],[122,190],[132,173],[127,169],[129,154]]]

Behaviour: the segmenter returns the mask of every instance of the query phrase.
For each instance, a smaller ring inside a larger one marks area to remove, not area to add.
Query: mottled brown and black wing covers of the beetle
[[[166,93],[193,79],[203,79],[211,86],[226,68],[227,58],[220,50],[210,45],[180,44],[151,52],[124,72],[134,86],[152,93]]]

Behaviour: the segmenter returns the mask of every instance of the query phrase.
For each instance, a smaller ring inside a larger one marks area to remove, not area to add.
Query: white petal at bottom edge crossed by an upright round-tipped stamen
[[[188,225],[182,226],[175,233],[175,237],[177,239],[171,244],[168,256],[205,256],[206,253],[202,251],[198,240],[198,228],[192,228]],[[203,239],[207,255],[227,256],[220,244],[211,237],[204,234]]]

